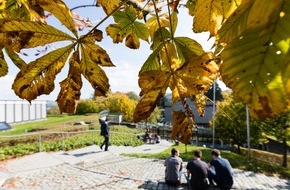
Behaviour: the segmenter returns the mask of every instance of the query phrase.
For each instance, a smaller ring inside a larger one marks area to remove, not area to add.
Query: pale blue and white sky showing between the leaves
[[[68,3],[70,8],[76,7],[78,5],[91,5],[94,0],[82,0],[82,1],[70,1],[64,0],[64,2]],[[81,2],[81,3],[80,3]],[[79,8],[76,9],[79,15],[83,18],[90,18],[93,24],[98,23],[103,17],[103,10],[99,8]],[[208,39],[209,33],[201,33],[201,34],[194,34],[192,32],[192,18],[188,16],[187,10],[182,8],[179,12],[179,24],[176,31],[176,36],[187,36],[193,38],[197,42],[199,42],[205,51],[210,51],[212,44],[214,43],[214,39]],[[56,20],[51,18],[48,20],[48,23],[57,27],[63,28],[60,23]],[[111,24],[112,21],[105,22],[101,25],[101,29],[104,31],[104,28]],[[180,26],[182,25],[182,27]],[[88,30],[84,30],[86,32]],[[139,94],[140,88],[138,86],[138,72],[142,67],[142,64],[146,61],[148,56],[151,53],[150,44],[147,42],[142,41],[140,49],[132,50],[125,46],[124,43],[121,44],[113,44],[112,39],[103,32],[103,40],[99,43],[99,45],[107,51],[109,54],[112,62],[116,65],[116,67],[102,67],[106,72],[109,83],[110,89],[112,92],[129,92],[133,91],[136,94]],[[42,50],[45,47],[38,47],[34,48],[33,50],[24,50],[28,56],[23,56],[22,58],[25,59],[27,62],[32,61],[36,57],[34,54],[37,50]],[[55,46],[49,46],[49,48],[53,49],[56,48]],[[14,94],[12,90],[12,84],[16,74],[19,72],[18,68],[8,61],[9,66],[9,73],[5,77],[0,78],[0,100],[21,100],[18,96]],[[67,76],[67,64],[63,68],[60,74],[57,75],[55,80],[55,89],[50,95],[41,95],[36,100],[51,100],[55,101],[57,99],[57,95],[60,91],[59,82],[66,78]],[[222,82],[218,82],[219,86],[226,90],[227,87]],[[83,78],[83,87],[81,90],[81,99],[87,99],[92,97],[93,95],[93,88],[89,84],[89,82]]]

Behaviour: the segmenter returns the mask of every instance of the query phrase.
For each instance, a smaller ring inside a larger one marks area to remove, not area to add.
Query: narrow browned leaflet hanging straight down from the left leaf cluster
[[[60,92],[56,102],[60,113],[75,113],[83,84],[78,51],[75,51],[69,60],[67,78],[59,84]]]

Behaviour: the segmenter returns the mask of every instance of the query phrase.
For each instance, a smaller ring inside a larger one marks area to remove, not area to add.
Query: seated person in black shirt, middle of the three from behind
[[[190,179],[190,187],[194,190],[207,190],[209,188],[208,165],[201,160],[202,152],[193,151],[194,159],[187,163],[187,176]]]

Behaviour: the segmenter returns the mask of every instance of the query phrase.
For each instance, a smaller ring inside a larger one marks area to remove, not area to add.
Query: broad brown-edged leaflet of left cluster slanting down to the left
[[[12,85],[15,94],[29,102],[42,94],[50,94],[55,77],[72,49],[73,45],[59,48],[22,67]]]

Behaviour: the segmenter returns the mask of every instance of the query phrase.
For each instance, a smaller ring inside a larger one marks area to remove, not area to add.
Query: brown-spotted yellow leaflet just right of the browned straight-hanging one
[[[102,68],[92,60],[89,53],[82,48],[81,72],[91,83],[95,96],[105,96],[110,88],[109,79]]]

